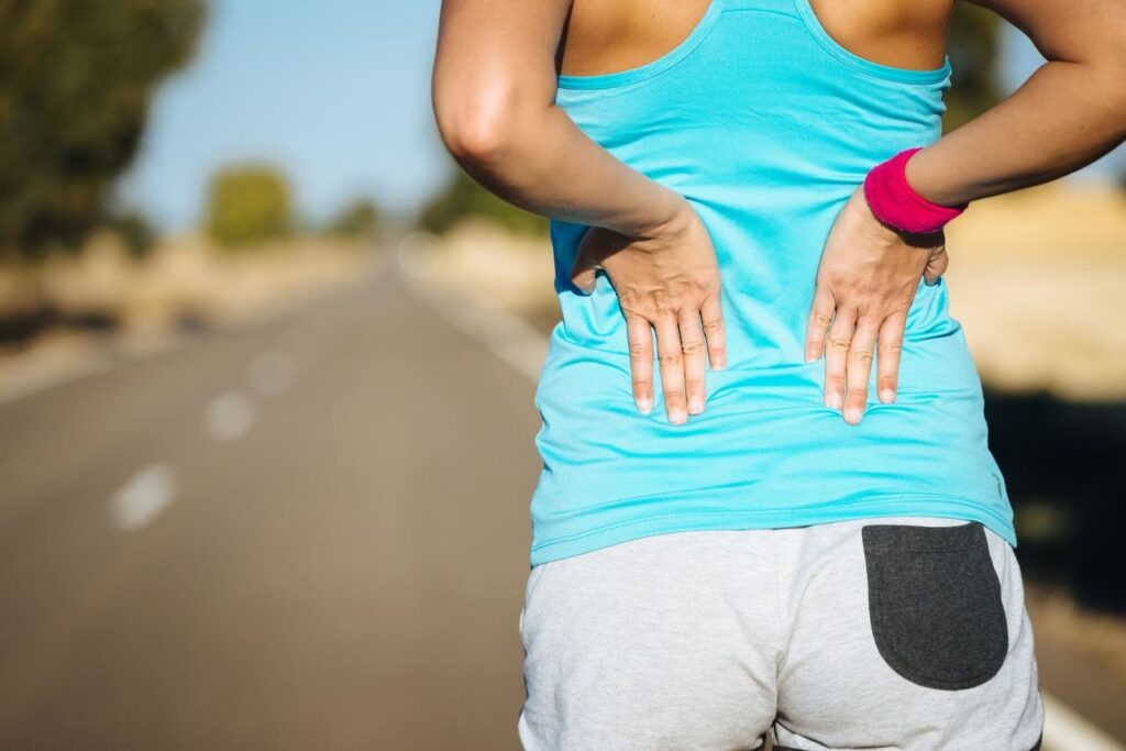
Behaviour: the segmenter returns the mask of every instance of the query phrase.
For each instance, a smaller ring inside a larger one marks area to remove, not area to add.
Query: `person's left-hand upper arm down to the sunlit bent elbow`
[[[447,145],[488,147],[513,108],[554,102],[555,52],[570,6],[571,0],[443,1],[431,100]]]

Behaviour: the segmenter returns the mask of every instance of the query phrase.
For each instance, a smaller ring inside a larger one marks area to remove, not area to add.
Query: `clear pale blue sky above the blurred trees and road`
[[[253,160],[289,176],[311,220],[363,196],[410,211],[450,164],[430,110],[439,5],[212,0],[196,60],[155,99],[123,202],[182,229],[216,167]],[[1010,90],[1040,62],[1024,36],[1007,37]],[[1101,167],[1083,175],[1109,172]]]

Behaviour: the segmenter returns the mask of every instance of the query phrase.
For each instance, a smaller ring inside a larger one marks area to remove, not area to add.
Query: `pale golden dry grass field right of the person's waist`
[[[1126,193],[1051,184],[971,207],[947,233],[951,313],[1006,391],[1126,399]]]

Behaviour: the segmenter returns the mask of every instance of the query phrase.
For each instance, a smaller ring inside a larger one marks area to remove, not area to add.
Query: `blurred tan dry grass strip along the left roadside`
[[[301,240],[223,253],[198,236],[129,259],[111,235],[78,256],[0,266],[0,397],[97,368],[114,352],[169,346],[208,328],[300,302],[354,279],[372,260],[355,241]],[[17,333],[12,333],[17,332]]]

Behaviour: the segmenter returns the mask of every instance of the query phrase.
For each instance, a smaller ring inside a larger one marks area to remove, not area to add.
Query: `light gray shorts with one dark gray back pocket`
[[[973,521],[654,535],[537,565],[527,751],[1033,751],[1012,547]]]

